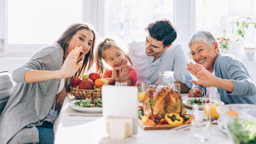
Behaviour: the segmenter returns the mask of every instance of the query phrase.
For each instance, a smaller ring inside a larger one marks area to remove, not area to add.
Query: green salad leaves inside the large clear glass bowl
[[[256,143],[256,123],[234,119],[227,126],[236,144]]]

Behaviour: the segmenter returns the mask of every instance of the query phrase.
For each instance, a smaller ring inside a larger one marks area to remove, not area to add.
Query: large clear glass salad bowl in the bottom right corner
[[[217,112],[234,144],[256,143],[256,105],[228,104]]]

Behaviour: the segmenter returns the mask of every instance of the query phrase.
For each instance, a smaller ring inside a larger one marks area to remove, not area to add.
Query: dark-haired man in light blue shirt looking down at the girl
[[[192,88],[192,77],[186,69],[184,50],[180,45],[172,44],[177,38],[174,25],[163,18],[149,23],[145,30],[148,32],[145,42],[129,44],[128,55],[137,72],[137,80],[150,80],[151,84],[157,85],[159,71],[174,71],[175,83],[180,84],[181,93],[188,93]]]

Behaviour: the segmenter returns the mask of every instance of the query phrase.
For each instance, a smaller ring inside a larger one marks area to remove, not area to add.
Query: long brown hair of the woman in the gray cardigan
[[[83,58],[81,58],[81,60],[83,61],[83,64],[74,75],[78,77],[81,77],[84,74],[85,70],[86,72],[88,72],[88,70],[92,67],[94,62],[93,49],[96,43],[97,34],[93,26],[89,23],[73,23],[61,34],[61,36],[55,42],[55,44],[59,45],[64,52],[64,55],[63,55],[63,61],[64,61],[65,55],[67,54],[67,42],[69,42],[71,37],[78,30],[81,30],[81,29],[87,29],[91,31],[93,33],[93,41],[92,41],[91,49],[89,50],[89,52]]]

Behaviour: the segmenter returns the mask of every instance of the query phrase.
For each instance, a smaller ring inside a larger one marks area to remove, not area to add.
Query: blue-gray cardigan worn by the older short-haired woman
[[[255,84],[245,65],[236,56],[222,51],[216,59],[214,70],[216,77],[229,79],[234,83],[232,93],[225,89],[217,88],[221,101],[225,104],[256,104]],[[195,87],[201,88],[205,94],[206,89],[204,86]]]

